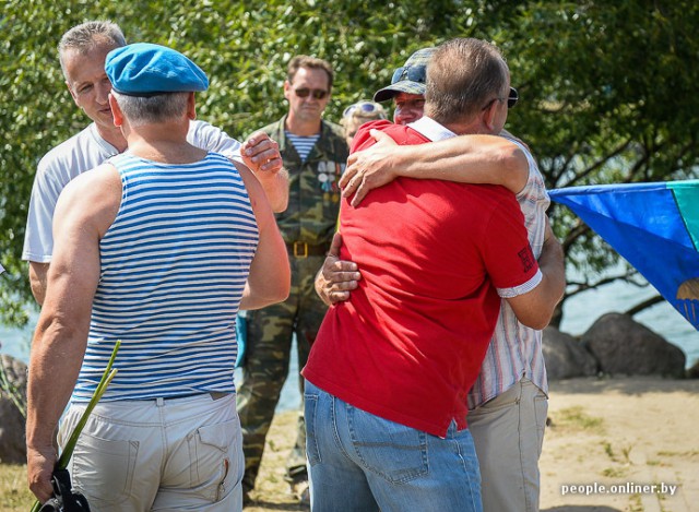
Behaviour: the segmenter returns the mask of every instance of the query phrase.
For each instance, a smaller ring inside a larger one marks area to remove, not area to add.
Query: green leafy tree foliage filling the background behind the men
[[[64,90],[55,49],[88,19],[111,19],[131,41],[190,56],[211,78],[199,117],[238,139],[286,110],[282,84],[294,55],[333,63],[325,117],[336,120],[416,49],[485,38],[502,48],[523,99],[508,128],[531,145],[548,187],[696,176],[699,5],[687,0],[8,0],[1,16],[3,321],[22,323],[33,303],[20,258],[36,164],[88,122]],[[618,257],[565,209],[553,215],[569,264],[585,276],[569,294],[595,286]]]

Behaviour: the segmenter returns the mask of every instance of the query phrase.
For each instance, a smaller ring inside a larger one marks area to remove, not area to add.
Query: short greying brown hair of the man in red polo
[[[490,43],[455,38],[443,43],[427,64],[425,112],[440,123],[476,115],[487,102],[503,97],[509,69]]]

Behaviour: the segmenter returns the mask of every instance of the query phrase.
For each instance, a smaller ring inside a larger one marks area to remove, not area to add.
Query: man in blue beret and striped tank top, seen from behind
[[[158,45],[111,50],[128,150],[73,179],[31,354],[27,474],[40,501],[107,366],[118,370],[69,464],[99,511],[242,509],[235,319],[289,293],[286,246],[245,166],[187,141],[206,75]]]

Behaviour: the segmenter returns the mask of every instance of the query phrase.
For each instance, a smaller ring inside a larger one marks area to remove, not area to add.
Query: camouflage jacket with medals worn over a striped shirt
[[[284,167],[288,170],[288,207],[276,214],[284,240],[310,246],[330,245],[340,212],[337,181],[345,170],[350,151],[335,123],[321,121],[320,139],[306,162],[284,134],[286,116],[261,128],[280,145]]]

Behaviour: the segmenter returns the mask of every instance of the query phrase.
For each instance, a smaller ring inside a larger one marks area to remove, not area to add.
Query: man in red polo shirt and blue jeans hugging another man
[[[433,57],[426,117],[376,128],[399,144],[499,133],[509,71],[498,50],[454,39]],[[497,186],[399,178],[341,207],[340,258],[363,272],[331,308],[304,377],[311,503],[319,510],[481,510],[469,389],[506,298],[541,329],[557,300],[513,195]],[[545,264],[545,263],[542,263]]]

